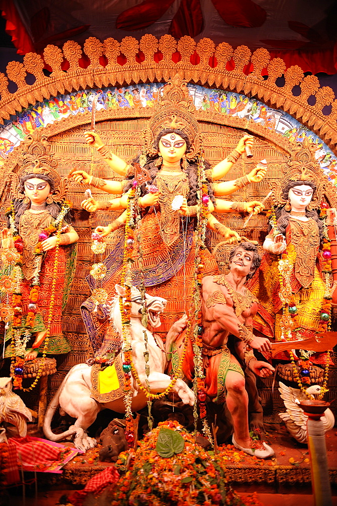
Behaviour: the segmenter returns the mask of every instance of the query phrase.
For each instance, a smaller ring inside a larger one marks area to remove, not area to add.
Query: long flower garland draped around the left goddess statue
[[[29,293],[29,303],[28,303],[28,313],[26,316],[26,321],[23,323],[22,321],[22,293],[21,293],[21,280],[23,279],[22,272],[22,259],[21,252],[24,249],[24,244],[22,242],[22,238],[19,236],[18,230],[15,226],[15,209],[14,203],[11,203],[11,207],[9,208],[8,216],[10,220],[10,229],[12,231],[13,240],[14,240],[14,248],[19,255],[19,258],[16,259],[16,263],[13,269],[13,279],[14,279],[14,288],[13,288],[13,296],[12,296],[12,341],[11,341],[11,375],[13,376],[13,384],[14,389],[20,389],[24,392],[29,392],[33,390],[33,388],[37,385],[37,382],[42,374],[42,369],[46,357],[46,351],[49,343],[50,336],[50,327],[53,319],[53,309],[55,305],[55,289],[56,289],[56,281],[57,281],[57,270],[59,263],[59,243],[60,236],[62,232],[62,222],[65,215],[69,212],[71,207],[71,202],[65,200],[62,204],[61,211],[54,223],[51,223],[49,227],[43,229],[43,231],[39,234],[39,241],[35,246],[34,254],[35,254],[35,272],[33,276],[33,281],[30,288]],[[39,286],[39,273],[42,265],[44,252],[41,247],[42,241],[50,237],[52,233],[56,232],[57,243],[55,246],[55,261],[53,266],[53,279],[52,279],[52,289],[51,289],[51,299],[49,306],[49,314],[47,317],[46,323],[46,334],[44,338],[44,346],[42,350],[42,360],[39,364],[38,371],[36,373],[36,377],[34,382],[31,384],[29,388],[22,388],[22,378],[23,378],[23,365],[24,365],[24,355],[26,351],[26,344],[31,338],[31,330],[34,326],[35,315],[37,313],[37,302],[38,302],[38,286]],[[22,337],[22,331],[24,329],[24,334]]]

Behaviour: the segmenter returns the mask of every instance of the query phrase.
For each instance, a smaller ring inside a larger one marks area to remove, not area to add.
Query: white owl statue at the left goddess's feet
[[[14,425],[21,437],[27,435],[27,420],[32,415],[23,400],[12,392],[12,378],[0,377],[0,424],[6,421]]]

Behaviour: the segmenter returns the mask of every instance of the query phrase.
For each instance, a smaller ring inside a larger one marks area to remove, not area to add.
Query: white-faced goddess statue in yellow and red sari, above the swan
[[[254,328],[271,341],[310,338],[324,330],[330,317],[330,276],[322,260],[331,254],[316,210],[322,195],[319,183],[309,180],[305,171],[302,178],[283,182],[260,269],[248,283],[259,301]],[[289,356],[282,352],[277,358]],[[311,360],[325,364],[326,356],[316,354]]]

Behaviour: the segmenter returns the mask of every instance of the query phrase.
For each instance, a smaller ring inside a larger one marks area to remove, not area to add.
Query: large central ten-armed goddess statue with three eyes
[[[167,88],[165,90],[165,88]],[[137,156],[131,165],[119,158],[103,144],[99,135],[86,132],[89,145],[98,149],[107,164],[114,172],[121,175],[124,181],[107,181],[89,176],[84,171],[72,174],[74,181],[90,184],[108,193],[122,194],[122,197],[108,202],[99,202],[92,198],[82,202],[89,212],[97,209],[123,209],[127,207],[131,188],[139,183],[139,170],[145,170],[140,182],[138,205],[141,209],[141,234],[139,258],[132,264],[132,282],[139,285],[141,279],[148,293],[160,294],[167,299],[168,305],[162,318],[161,330],[167,331],[177,316],[182,316],[191,296],[194,283],[195,238],[194,229],[198,211],[198,163],[202,152],[199,125],[190,114],[186,105],[170,102],[170,87],[164,88],[164,96],[150,120],[149,129],[144,132],[146,148]],[[181,90],[180,90],[181,91]],[[182,97],[185,104],[190,104],[188,91]],[[170,102],[169,105],[167,105]],[[165,105],[166,104],[166,105]],[[235,181],[219,182],[230,170],[233,163],[244,153],[245,146],[252,146],[253,137],[244,136],[236,148],[224,160],[213,168],[205,161],[207,184],[207,201],[209,201],[208,227],[223,235],[228,242],[239,241],[239,235],[222,225],[211,214],[216,212],[259,212],[263,204],[258,201],[230,202],[215,198],[230,194],[251,182],[261,181],[264,168],[254,170]],[[139,164],[141,167],[139,167]],[[108,227],[98,227],[96,232],[108,235],[126,221],[124,212]],[[106,259],[107,276],[104,288],[112,292],[119,280],[122,266],[122,247],[124,240],[113,249]],[[205,250],[203,274],[217,272],[217,264],[208,250]],[[87,305],[86,309],[90,309]],[[83,313],[82,313],[83,314]],[[84,319],[86,320],[86,316]],[[90,330],[88,330],[90,335]]]

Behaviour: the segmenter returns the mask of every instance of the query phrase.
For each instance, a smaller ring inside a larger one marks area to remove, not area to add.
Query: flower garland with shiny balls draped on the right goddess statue
[[[321,334],[330,329],[331,325],[331,294],[330,294],[330,279],[332,275],[331,268],[331,245],[328,237],[328,231],[326,226],[326,209],[328,208],[328,204],[326,202],[321,203],[320,208],[320,219],[323,224],[323,251],[322,251],[322,274],[324,276],[325,281],[325,292],[324,298],[321,306],[320,319],[318,323],[317,333]],[[275,210],[272,208],[270,214],[269,223],[273,228],[274,235],[280,233],[277,230],[276,224],[276,216]],[[281,259],[278,262],[278,270],[279,270],[279,298],[283,304],[283,314],[280,320],[281,324],[281,338],[283,341],[286,339],[287,341],[291,341],[293,339],[292,330],[296,332],[301,332],[301,326],[298,322],[298,308],[295,303],[294,293],[291,287],[291,272],[293,270],[293,265],[290,260],[287,258],[287,250],[285,249],[281,254]],[[284,336],[284,332],[287,334],[286,338]],[[292,351],[289,352],[291,357],[291,363],[293,366],[293,377],[295,381],[298,383],[300,390],[307,395],[310,399],[314,399],[312,395],[306,393],[306,388],[310,385],[310,367],[312,362],[308,358],[308,354],[304,351],[302,352],[303,357],[299,361],[299,365],[301,367],[300,373],[297,370],[295,357]],[[330,350],[327,352],[327,361],[325,365],[324,371],[324,381],[323,387],[326,388],[328,381],[328,372],[329,372],[329,362],[330,362]],[[303,385],[304,384],[304,385]],[[324,395],[324,392],[320,394],[319,398],[321,399]]]

